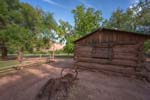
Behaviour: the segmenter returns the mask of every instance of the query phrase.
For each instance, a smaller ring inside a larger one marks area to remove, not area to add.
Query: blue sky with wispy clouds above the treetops
[[[138,0],[21,0],[27,2],[34,7],[42,8],[44,11],[54,13],[55,19],[68,21],[74,24],[72,9],[76,6],[84,4],[86,7],[93,7],[102,11],[102,16],[106,19],[110,18],[112,12],[116,8],[127,9]]]

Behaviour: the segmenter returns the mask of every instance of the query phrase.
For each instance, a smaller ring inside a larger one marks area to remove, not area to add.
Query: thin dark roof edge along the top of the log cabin
[[[77,39],[76,41],[74,41],[74,43],[82,40],[82,39],[85,39],[86,37],[89,37],[91,36],[92,34],[98,32],[98,31],[113,31],[113,32],[120,32],[120,33],[130,33],[130,34],[135,34],[135,35],[140,35],[140,36],[149,36],[150,37],[150,34],[146,34],[146,33],[139,33],[139,32],[129,32],[129,31],[123,31],[123,30],[118,30],[118,29],[108,29],[108,28],[98,28],[97,30],[91,32],[91,33],[88,33],[87,35]]]

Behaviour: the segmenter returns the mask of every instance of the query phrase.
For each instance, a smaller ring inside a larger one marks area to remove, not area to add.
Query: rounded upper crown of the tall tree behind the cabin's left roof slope
[[[75,21],[75,32],[81,36],[100,27],[102,13],[94,8],[85,8],[84,5],[77,6],[72,10]]]

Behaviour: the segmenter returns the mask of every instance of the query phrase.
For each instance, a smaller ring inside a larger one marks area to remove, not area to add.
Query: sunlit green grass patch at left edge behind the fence
[[[19,64],[17,60],[0,61],[0,68],[17,65],[17,64]]]

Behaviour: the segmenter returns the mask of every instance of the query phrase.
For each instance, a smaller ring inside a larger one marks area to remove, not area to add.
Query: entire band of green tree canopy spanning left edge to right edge
[[[126,10],[116,9],[109,19],[102,11],[79,5],[72,10],[74,25],[56,22],[53,13],[44,12],[19,0],[0,0],[0,49],[2,57],[7,51],[48,48],[55,42],[65,45],[64,52],[72,53],[73,41],[99,28],[106,27],[133,32],[150,32],[150,2],[140,0]],[[149,48],[146,42],[146,48]]]

